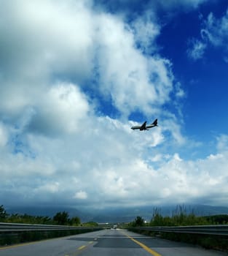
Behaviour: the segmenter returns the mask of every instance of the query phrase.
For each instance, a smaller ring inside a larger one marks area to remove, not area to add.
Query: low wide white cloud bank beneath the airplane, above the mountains
[[[228,155],[223,136],[218,152],[187,161],[178,154],[155,155],[157,147],[147,151],[158,129],[136,133],[111,118],[93,118],[92,123],[93,129],[79,135],[58,139],[30,135],[35,159],[1,154],[1,191],[20,191],[18,202],[29,191],[31,200],[46,202],[55,197],[70,206],[81,206],[82,201],[99,207],[194,203],[200,198],[224,205]],[[152,167],[149,157],[158,167]]]

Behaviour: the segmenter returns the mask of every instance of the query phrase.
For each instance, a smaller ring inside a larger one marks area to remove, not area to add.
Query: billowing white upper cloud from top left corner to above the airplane
[[[34,97],[48,91],[50,79],[56,77],[70,78],[80,86],[97,80],[95,86],[103,98],[111,99],[124,116],[133,110],[151,114],[169,100],[173,90],[170,61],[146,57],[135,47],[136,38],[146,50],[149,45],[154,48],[160,28],[150,18],[135,20],[133,33],[122,18],[94,12],[84,1],[25,1],[23,7],[19,5],[20,0],[4,2],[8,15],[1,17],[10,31],[1,48],[1,61],[7,63],[7,79],[1,83],[4,113],[19,115],[34,104]],[[1,34],[6,33],[4,26],[0,29]],[[94,89],[93,84],[90,87]]]

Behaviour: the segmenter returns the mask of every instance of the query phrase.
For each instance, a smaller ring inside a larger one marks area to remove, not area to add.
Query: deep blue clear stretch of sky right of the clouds
[[[197,9],[172,17],[162,29],[158,42],[161,53],[173,63],[173,73],[186,93],[183,104],[184,132],[208,143],[213,136],[227,132],[227,34],[222,45],[201,36],[208,15],[217,22],[225,17],[226,1],[205,1]],[[173,36],[175,34],[175,36]],[[199,56],[191,56],[197,42],[205,44]],[[208,145],[203,148],[207,151]],[[211,148],[213,152],[213,148]],[[206,152],[208,154],[208,151]],[[202,153],[204,154],[204,153]]]

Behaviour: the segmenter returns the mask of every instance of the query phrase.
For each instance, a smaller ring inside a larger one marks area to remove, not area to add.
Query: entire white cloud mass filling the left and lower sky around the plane
[[[1,203],[178,203],[206,197],[208,184],[215,195],[227,178],[226,137],[197,162],[166,151],[186,143],[181,122],[162,109],[184,91],[157,53],[160,26],[152,14],[127,24],[94,5],[1,1]],[[105,115],[103,102],[118,115]],[[165,121],[135,132],[128,119],[137,111]]]

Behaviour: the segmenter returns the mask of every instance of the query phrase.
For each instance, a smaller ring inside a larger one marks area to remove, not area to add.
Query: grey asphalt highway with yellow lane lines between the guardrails
[[[127,230],[100,230],[14,246],[0,246],[0,256],[221,256],[225,252]]]

